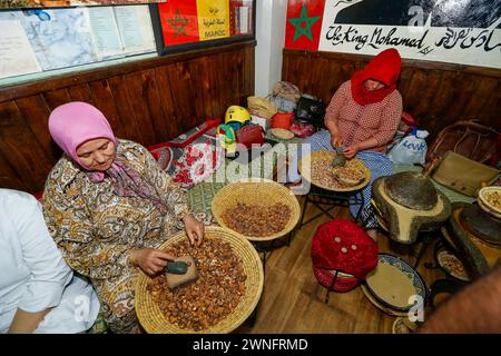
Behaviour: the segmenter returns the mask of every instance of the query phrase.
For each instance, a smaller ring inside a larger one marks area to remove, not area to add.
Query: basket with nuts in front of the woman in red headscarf
[[[371,171],[358,158],[347,159],[344,167],[333,167],[335,152],[328,150],[312,151],[298,162],[301,175],[312,185],[332,191],[354,191],[365,188],[371,181]],[[356,172],[358,182],[351,184],[342,179],[342,172]],[[340,179],[341,178],[341,179]]]

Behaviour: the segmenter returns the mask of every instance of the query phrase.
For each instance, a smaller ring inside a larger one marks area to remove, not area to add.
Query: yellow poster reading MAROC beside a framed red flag
[[[228,0],[197,0],[200,41],[229,37]]]

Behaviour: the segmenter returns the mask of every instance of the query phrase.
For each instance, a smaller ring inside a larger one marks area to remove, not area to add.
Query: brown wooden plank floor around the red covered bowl
[[[299,198],[299,202],[303,206],[304,199]],[[346,208],[336,209],[333,210],[336,217],[350,216]],[[317,212],[315,206],[308,205],[306,218]],[[344,294],[331,293],[328,304],[324,303],[326,289],[316,281],[312,270],[311,241],[316,227],[328,220],[322,216],[307,224],[288,247],[279,247],[267,255],[265,285],[255,323],[250,326],[247,320],[235,333],[392,333],[395,317],[373,306],[361,288]],[[385,235],[380,234],[379,247],[380,251],[390,251],[411,264],[415,260],[410,251],[402,254],[392,249]],[[424,268],[426,261],[433,261],[431,247],[418,268],[430,286],[445,275],[440,269]]]

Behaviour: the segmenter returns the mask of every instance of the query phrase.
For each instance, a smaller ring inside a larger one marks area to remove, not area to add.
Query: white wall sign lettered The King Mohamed
[[[501,7],[491,0],[326,0],[318,50],[501,69]]]

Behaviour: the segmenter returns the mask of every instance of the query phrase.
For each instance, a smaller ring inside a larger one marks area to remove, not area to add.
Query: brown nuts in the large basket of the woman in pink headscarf
[[[247,277],[229,243],[206,236],[199,247],[184,240],[166,253],[190,255],[198,274],[196,280],[171,290],[164,274],[153,278],[147,286],[168,323],[200,332],[216,325],[237,307],[245,295]]]

